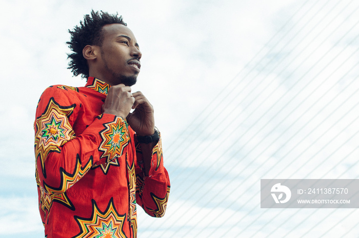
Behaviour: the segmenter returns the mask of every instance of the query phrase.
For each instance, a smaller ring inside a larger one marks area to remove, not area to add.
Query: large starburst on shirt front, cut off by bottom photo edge
[[[123,230],[126,214],[117,213],[113,198],[104,212],[99,210],[94,200],[92,200],[92,208],[92,215],[88,219],[74,216],[81,231],[72,238],[127,237]]]

